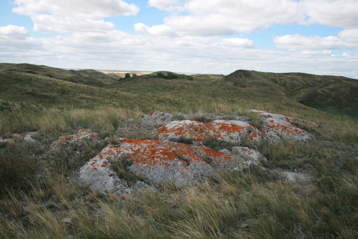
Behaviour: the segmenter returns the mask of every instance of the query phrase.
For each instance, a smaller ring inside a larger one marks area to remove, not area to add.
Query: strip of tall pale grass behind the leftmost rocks
[[[43,112],[9,112],[0,114],[1,135],[9,137],[11,133],[38,131],[58,134],[77,131],[78,127],[90,127],[93,131],[115,131],[125,126],[128,118],[137,119],[144,113],[138,108],[106,107],[100,109],[51,109]]]

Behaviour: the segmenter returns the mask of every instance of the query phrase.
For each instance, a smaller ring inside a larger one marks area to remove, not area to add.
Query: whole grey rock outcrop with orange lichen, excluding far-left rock
[[[314,125],[312,122],[264,111],[251,111],[261,115],[263,119],[261,130],[243,122],[248,121],[248,117],[230,117],[240,118],[243,121],[216,119],[209,123],[202,123],[191,120],[171,121],[173,114],[160,111],[148,114],[142,118],[135,130],[159,132],[159,140],[118,138],[120,146],[105,147],[80,169],[79,178],[94,190],[119,194],[155,190],[150,184],[169,182],[179,186],[202,184],[218,170],[241,171],[266,161],[258,151],[239,147],[244,139],[255,148],[261,138],[272,142],[288,139],[306,142],[313,138],[308,132],[295,126],[300,124],[311,126]],[[128,129],[129,132],[131,130],[133,129]],[[82,138],[98,139],[96,133],[81,130],[77,135],[61,136],[53,146],[79,145]],[[205,141],[213,138],[219,142],[230,142],[232,146],[216,151],[203,145]],[[182,139],[192,139],[193,144],[172,142]],[[122,161],[125,163],[123,164]],[[115,171],[118,162],[128,174],[135,175],[141,181],[129,186],[124,177],[119,178],[120,174]],[[282,175],[291,181],[293,179],[297,181],[298,176]]]

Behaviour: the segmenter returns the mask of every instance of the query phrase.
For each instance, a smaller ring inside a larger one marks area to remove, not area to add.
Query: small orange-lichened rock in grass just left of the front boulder
[[[60,136],[58,140],[54,141],[51,144],[51,148],[55,149],[57,147],[78,147],[82,145],[82,139],[87,138],[88,140],[99,140],[97,137],[98,133],[92,132],[90,129],[82,129],[78,131],[76,135],[64,135]]]

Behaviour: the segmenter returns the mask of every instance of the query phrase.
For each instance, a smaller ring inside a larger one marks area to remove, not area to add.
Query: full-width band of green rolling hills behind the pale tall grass
[[[310,108],[358,115],[358,80],[305,73],[266,73],[237,70],[227,76],[185,74],[176,79],[156,78],[157,73],[120,78],[96,70],[65,70],[44,65],[0,63],[1,100],[15,104],[60,104],[84,108],[117,102],[140,105],[143,110],[210,105],[255,103],[285,104],[292,109]],[[153,77],[154,76],[154,77]],[[308,106],[308,107],[304,107]]]

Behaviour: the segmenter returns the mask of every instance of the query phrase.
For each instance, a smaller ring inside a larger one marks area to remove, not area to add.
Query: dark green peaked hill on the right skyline
[[[344,111],[358,116],[357,79],[333,75],[236,70],[222,78],[221,84],[266,89],[313,108]]]

